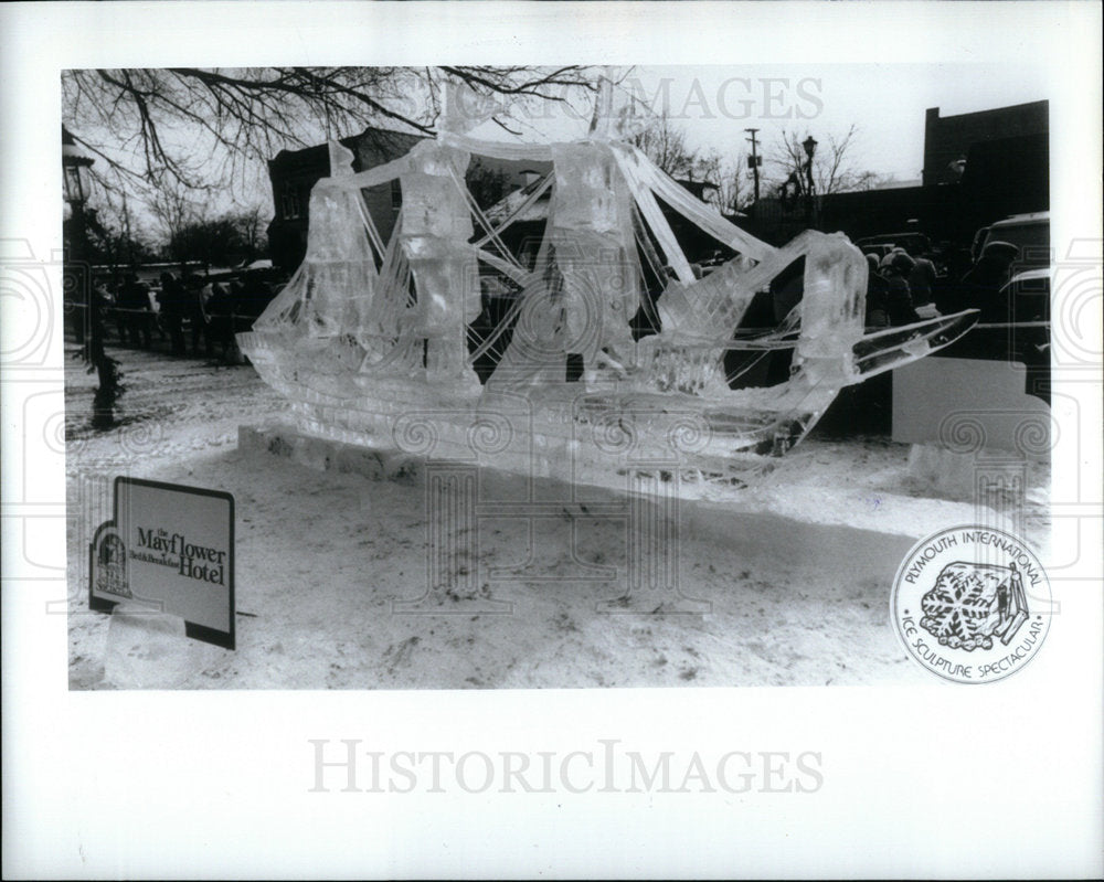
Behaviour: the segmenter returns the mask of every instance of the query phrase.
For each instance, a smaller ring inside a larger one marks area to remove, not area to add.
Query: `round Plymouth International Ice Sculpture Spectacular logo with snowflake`
[[[945,680],[1016,673],[1050,629],[1050,582],[1016,536],[953,527],[917,542],[893,580],[890,615],[913,659]]]

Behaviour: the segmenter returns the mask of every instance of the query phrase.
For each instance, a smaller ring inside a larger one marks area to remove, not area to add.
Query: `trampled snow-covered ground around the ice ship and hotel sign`
[[[425,497],[416,480],[319,471],[240,449],[240,426],[274,424],[287,410],[248,365],[110,350],[127,390],[120,425],[96,432],[95,375],[72,358],[73,344],[66,349],[73,689],[116,686],[105,676],[109,617],[87,609],[86,550],[110,517],[110,481],[120,474],[235,499],[237,649],[189,642],[181,688],[928,680],[894,637],[890,580],[915,539],[970,520],[973,507],[933,498],[909,477],[909,448],[884,437],[814,435],[721,513],[687,509],[679,586],[709,602],[709,613],[598,612],[624,593],[623,527],[565,509],[559,520],[538,522],[523,572],[492,587],[492,566],[524,562],[524,535],[507,520],[480,533],[471,565],[487,593],[512,604],[509,614],[464,612],[470,602],[443,596],[443,612],[454,614],[397,615],[393,601],[425,591]],[[1036,466],[1030,478],[1038,496],[1047,470]],[[616,567],[620,581],[572,581],[593,572],[587,566]]]

